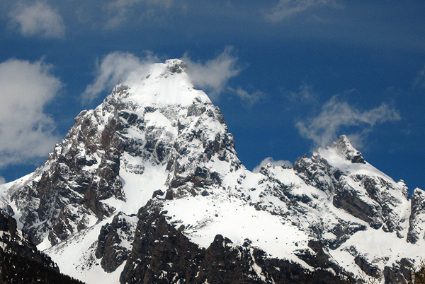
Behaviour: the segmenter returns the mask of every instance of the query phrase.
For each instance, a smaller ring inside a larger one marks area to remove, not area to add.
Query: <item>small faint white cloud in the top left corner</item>
[[[63,38],[65,25],[59,13],[42,1],[18,4],[10,14],[11,25],[18,26],[24,36]]]

